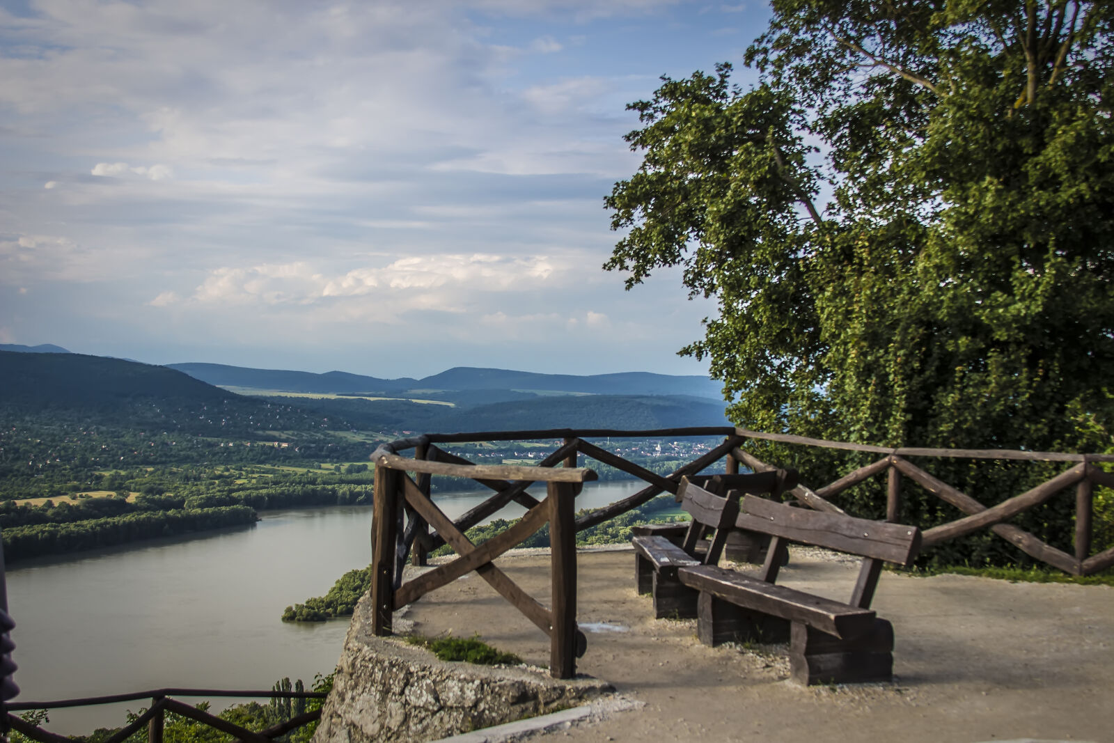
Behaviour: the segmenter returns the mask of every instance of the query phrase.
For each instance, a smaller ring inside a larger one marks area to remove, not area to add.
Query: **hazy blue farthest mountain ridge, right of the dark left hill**
[[[648,372],[578,377],[574,374],[539,374],[506,369],[455,366],[440,374],[423,379],[409,377],[379,379],[378,377],[339,371],[314,374],[224,364],[182,363],[167,365],[209,384],[285,392],[332,392],[340,394],[412,392],[417,394],[421,392],[511,390],[541,394],[554,392],[571,394],[682,394],[713,400],[721,399],[720,384],[707,377],[674,377]]]

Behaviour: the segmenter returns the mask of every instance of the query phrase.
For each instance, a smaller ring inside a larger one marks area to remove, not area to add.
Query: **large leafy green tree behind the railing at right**
[[[774,0],[759,82],[662,78],[606,201],[681,266],[732,417],[883,444],[1111,446],[1114,6]]]

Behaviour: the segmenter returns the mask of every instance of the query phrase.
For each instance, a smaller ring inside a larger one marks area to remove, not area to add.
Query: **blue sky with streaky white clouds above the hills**
[[[706,373],[624,291],[627,102],[758,2],[0,0],[0,343],[375,377]]]

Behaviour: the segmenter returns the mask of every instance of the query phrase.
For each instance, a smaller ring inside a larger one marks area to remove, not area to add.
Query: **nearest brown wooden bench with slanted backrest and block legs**
[[[793,508],[754,496],[743,498],[734,526],[771,536],[758,575],[724,569],[712,560],[676,568],[677,580],[698,592],[697,635],[702,643],[714,646],[788,639],[792,677],[803,684],[892,678],[893,627],[876,616],[870,603],[882,561],[909,565],[916,557],[920,547],[917,528]],[[724,530],[716,531],[717,540]],[[850,602],[776,585],[781,567],[776,554],[785,541],[863,557]]]

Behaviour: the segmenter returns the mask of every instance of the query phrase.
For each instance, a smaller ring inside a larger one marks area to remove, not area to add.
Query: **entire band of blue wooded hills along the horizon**
[[[711,392],[715,384],[702,377],[457,368],[421,380],[380,380],[221,364],[156,366],[25,349],[0,350],[0,413],[107,417],[116,424],[133,421],[163,430],[218,426],[228,434],[233,429],[451,432],[730,424],[723,401]]]

